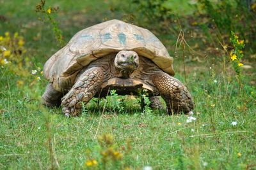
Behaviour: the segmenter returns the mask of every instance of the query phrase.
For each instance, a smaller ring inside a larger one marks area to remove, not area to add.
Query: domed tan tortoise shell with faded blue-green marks
[[[120,50],[132,50],[174,75],[173,57],[152,32],[120,20],[109,20],[77,32],[66,46],[47,60],[44,76],[54,89],[62,92],[74,85],[83,67]]]

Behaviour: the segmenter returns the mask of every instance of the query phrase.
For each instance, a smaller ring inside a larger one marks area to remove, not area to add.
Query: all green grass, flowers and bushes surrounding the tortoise
[[[141,2],[0,0],[0,169],[255,169],[256,4]],[[113,90],[74,118],[40,104],[44,62],[77,31],[112,18],[163,41],[194,115],[152,111],[147,92]]]

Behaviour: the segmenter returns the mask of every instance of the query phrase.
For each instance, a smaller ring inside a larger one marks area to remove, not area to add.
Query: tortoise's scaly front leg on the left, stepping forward
[[[99,91],[103,80],[104,71],[101,67],[93,67],[80,74],[74,86],[62,98],[62,111],[65,116],[79,115],[82,108],[81,102],[88,103]]]

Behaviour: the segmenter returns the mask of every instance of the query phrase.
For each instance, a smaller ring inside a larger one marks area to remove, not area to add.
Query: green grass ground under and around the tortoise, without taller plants
[[[8,19],[1,23],[0,35],[9,31],[24,36],[26,56],[31,60],[29,71],[42,68],[59,49],[51,28],[37,20],[36,3],[0,1],[0,13]],[[47,5],[61,8],[57,20],[66,42],[106,16],[125,15],[122,10],[108,10],[115,3],[47,1]],[[173,53],[176,39],[163,34],[160,37]],[[187,41],[200,43],[196,39]],[[222,56],[217,56],[200,58],[202,62],[186,58],[187,86],[196,106],[192,123],[186,123],[187,115],[168,116],[164,110],[141,113],[138,99],[131,97],[124,97],[125,108],[120,113],[111,106],[118,103],[113,96],[100,101],[100,110],[92,101],[81,117],[65,118],[61,108],[41,106],[46,80],[18,76],[10,72],[12,64],[1,66],[0,169],[90,169],[86,166],[90,159],[97,160],[95,167],[102,169],[102,152],[110,147],[122,153],[123,159],[109,160],[106,169],[254,169],[256,90],[250,82],[255,81],[255,68],[244,69],[244,87],[239,91],[234,71],[230,67],[223,70]],[[185,82],[182,62],[175,58],[174,67],[176,77]],[[22,86],[17,85],[20,79]],[[100,145],[98,138],[103,134],[113,136],[113,145]]]

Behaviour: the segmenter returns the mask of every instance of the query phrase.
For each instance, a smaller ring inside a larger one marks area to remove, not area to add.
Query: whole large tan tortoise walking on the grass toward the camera
[[[189,113],[194,103],[176,78],[173,57],[147,29],[109,20],[83,29],[44,65],[49,84],[42,96],[49,107],[63,106],[66,116],[81,113],[82,103],[116,89],[120,95],[146,89],[153,109],[166,102],[168,114]]]

